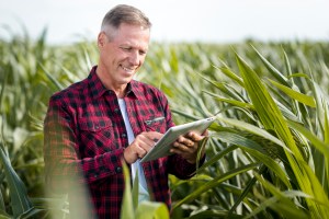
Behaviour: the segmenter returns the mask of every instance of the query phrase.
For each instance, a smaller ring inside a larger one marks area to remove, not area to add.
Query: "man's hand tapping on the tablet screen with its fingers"
[[[134,163],[156,145],[163,134],[157,131],[141,132],[136,136],[135,140],[124,151],[124,159],[127,163]]]

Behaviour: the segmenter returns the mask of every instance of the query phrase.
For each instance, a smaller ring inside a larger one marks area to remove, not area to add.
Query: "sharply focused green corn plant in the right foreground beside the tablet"
[[[204,93],[218,102],[218,124],[195,177],[202,185],[174,208],[185,205],[192,218],[327,218],[328,95],[311,77],[292,73],[285,53],[287,77],[254,51],[269,77],[261,79],[238,54],[241,76],[216,67],[230,83],[201,76],[215,88]],[[310,88],[307,94],[300,84]]]

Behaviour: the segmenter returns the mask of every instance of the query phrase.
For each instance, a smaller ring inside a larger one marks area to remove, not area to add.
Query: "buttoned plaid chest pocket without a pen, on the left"
[[[80,118],[79,130],[82,157],[99,155],[115,149],[113,125],[109,118]]]

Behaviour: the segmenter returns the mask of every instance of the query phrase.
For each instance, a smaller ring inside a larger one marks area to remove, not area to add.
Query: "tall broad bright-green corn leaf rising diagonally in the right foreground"
[[[314,196],[315,199],[327,204],[328,197],[325,195],[325,191],[321,187],[319,187],[319,189],[314,189],[314,181],[318,180],[315,174],[313,174],[313,176],[310,177],[310,168],[304,161],[303,155],[294,141],[292,132],[288,129],[286,120],[283,118],[270,93],[266,91],[257,73],[247,65],[247,62],[243,61],[242,58],[238,55],[236,56],[236,58],[245,81],[246,90],[248,91],[248,94],[254,105],[256,111],[258,112],[262,124],[266,129],[274,130],[292,151],[292,154],[290,152],[286,152],[286,157],[288,159],[290,166],[293,170],[294,175],[298,182],[298,185],[300,186],[300,189],[304,193]],[[318,184],[318,182],[316,184]],[[306,201],[313,216],[329,216],[326,207],[319,206],[310,199],[307,199]]]

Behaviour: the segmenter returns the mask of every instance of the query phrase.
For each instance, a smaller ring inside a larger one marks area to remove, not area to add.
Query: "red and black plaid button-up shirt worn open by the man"
[[[69,194],[73,218],[120,218],[122,158],[128,139],[117,97],[105,89],[95,69],[50,97],[44,123],[46,183],[52,191]],[[135,136],[150,130],[163,134],[174,125],[159,90],[133,80],[124,100]],[[162,116],[164,122],[146,123]],[[189,178],[195,165],[174,154],[145,162],[143,169],[152,200],[170,208],[168,174]]]

